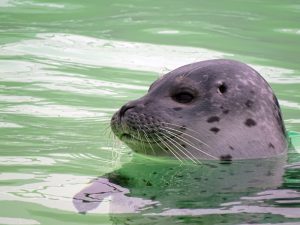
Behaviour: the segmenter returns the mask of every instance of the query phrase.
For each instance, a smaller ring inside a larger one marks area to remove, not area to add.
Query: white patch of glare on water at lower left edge
[[[69,174],[2,173],[0,179],[2,182],[13,180],[19,183],[18,186],[11,186],[9,183],[1,185],[0,199],[2,201],[30,202],[49,208],[73,211],[74,207],[70,199],[92,178]],[[31,182],[28,183],[28,180]]]

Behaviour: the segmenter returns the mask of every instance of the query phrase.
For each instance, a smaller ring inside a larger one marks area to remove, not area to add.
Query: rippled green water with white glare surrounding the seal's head
[[[299,22],[296,0],[0,0],[0,224],[300,224]],[[109,135],[160,74],[214,58],[269,81],[287,166],[179,165]]]

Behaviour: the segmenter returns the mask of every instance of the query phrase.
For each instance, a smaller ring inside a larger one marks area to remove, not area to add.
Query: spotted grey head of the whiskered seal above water
[[[249,159],[287,149],[278,101],[251,67],[232,60],[185,65],[112,118],[134,151],[178,159]]]

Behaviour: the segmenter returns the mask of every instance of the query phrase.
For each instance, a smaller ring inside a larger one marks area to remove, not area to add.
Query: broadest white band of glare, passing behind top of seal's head
[[[0,55],[33,55],[73,64],[105,66],[160,73],[179,66],[208,59],[232,57],[233,54],[204,48],[168,46],[97,39],[73,34],[37,34],[37,39],[7,44]],[[122,59],[122,60],[121,60]],[[299,83],[293,70],[253,65],[273,83]]]

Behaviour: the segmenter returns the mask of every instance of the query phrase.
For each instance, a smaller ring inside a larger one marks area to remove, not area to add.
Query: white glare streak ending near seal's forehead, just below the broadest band
[[[32,90],[32,87],[71,92],[83,95],[117,95],[116,89],[124,90],[147,90],[148,87],[142,85],[108,82],[88,78],[84,75],[55,71],[56,66],[32,63],[26,61],[5,60],[0,61],[3,68],[0,81],[32,83],[32,86],[23,89]],[[6,99],[13,97],[8,97]],[[20,99],[25,97],[21,97]],[[1,98],[0,101],[5,100]]]

